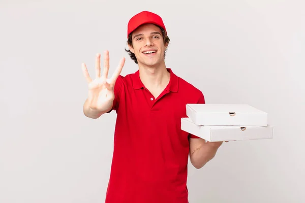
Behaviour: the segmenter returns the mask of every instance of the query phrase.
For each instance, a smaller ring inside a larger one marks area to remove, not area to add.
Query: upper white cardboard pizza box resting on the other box
[[[187,104],[187,116],[196,125],[267,126],[268,114],[250,105]]]

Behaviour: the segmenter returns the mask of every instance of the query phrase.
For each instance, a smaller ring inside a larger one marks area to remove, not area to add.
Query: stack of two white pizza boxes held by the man
[[[181,129],[209,142],[272,139],[268,114],[243,104],[187,104]]]

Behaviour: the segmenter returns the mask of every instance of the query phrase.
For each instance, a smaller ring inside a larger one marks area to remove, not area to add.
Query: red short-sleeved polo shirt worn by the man
[[[204,104],[200,90],[177,77],[158,98],[144,87],[139,71],[119,76],[117,113],[106,203],[187,203],[189,138],[180,129],[186,104]]]

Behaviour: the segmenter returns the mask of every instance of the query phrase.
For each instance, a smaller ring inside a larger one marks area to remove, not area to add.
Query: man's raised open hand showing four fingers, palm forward
[[[114,85],[125,63],[123,57],[111,78],[108,78],[109,72],[109,52],[104,51],[104,70],[101,76],[101,55],[96,55],[95,80],[90,78],[86,64],[82,63],[82,71],[88,82],[88,98],[85,103],[87,111],[105,113],[112,108],[114,99]]]

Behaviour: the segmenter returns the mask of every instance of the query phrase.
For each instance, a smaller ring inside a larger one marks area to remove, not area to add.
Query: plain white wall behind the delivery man
[[[224,143],[200,170],[190,202],[305,202],[305,26],[302,1],[1,1],[0,202],[103,202],[115,113],[82,113],[86,62],[108,49],[122,75],[127,22],[162,16],[166,63],[206,103],[269,113],[272,140]],[[167,3],[168,2],[168,3]]]

